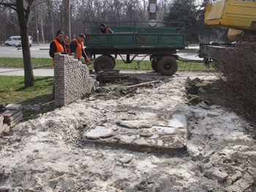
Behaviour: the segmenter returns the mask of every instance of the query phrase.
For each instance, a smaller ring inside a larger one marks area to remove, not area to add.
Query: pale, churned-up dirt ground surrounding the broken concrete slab
[[[252,125],[218,105],[189,102],[187,83],[195,74],[188,75],[109,83],[84,99],[19,123],[0,137],[0,191],[255,191]],[[86,142],[84,133],[91,128],[130,120],[126,110],[135,112],[132,120],[158,123],[184,115],[187,151],[142,153]]]

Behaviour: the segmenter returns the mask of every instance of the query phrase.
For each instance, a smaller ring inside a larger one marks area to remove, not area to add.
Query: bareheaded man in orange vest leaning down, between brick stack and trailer
[[[78,58],[78,61],[83,57],[86,59],[86,62],[89,63],[89,57],[83,49],[83,42],[85,39],[86,36],[84,34],[80,34],[78,37],[72,39],[69,43],[69,55],[71,55],[71,53],[75,53],[75,58]]]

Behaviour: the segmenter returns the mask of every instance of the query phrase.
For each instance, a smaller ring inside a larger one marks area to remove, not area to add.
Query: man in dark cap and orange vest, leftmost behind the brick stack
[[[51,58],[53,58],[53,65],[54,65],[54,53],[67,54],[66,48],[64,47],[64,43],[62,42],[63,38],[64,38],[64,33],[63,31],[59,30],[56,33],[56,39],[54,39],[50,43],[49,55]]]

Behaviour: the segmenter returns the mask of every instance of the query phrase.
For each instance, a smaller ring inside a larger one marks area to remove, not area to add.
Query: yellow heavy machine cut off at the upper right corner
[[[227,38],[231,42],[255,42],[256,46],[256,0],[222,0],[207,4],[204,24],[229,28]],[[219,42],[202,43],[198,56],[208,66],[221,49],[232,45]]]

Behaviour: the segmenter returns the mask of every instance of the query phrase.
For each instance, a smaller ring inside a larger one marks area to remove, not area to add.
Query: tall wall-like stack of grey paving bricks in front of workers
[[[62,107],[81,99],[91,91],[96,80],[89,77],[89,68],[74,56],[54,54],[55,106]]]

